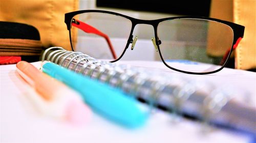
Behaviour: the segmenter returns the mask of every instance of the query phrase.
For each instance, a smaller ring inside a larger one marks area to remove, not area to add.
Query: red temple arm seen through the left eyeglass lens
[[[110,47],[110,50],[111,50],[111,53],[112,53],[112,56],[114,59],[117,59],[117,56],[116,56],[116,53],[115,53],[115,50],[112,46],[112,43],[110,41],[110,38],[108,35],[100,32],[99,30],[97,30],[95,27],[87,24],[87,23],[84,23],[82,21],[79,21],[77,19],[72,19],[72,26],[75,26],[77,28],[79,28],[80,30],[86,32],[86,33],[93,33],[93,34],[96,34],[96,35],[99,35],[101,37],[103,37],[106,42],[108,43],[109,47]]]

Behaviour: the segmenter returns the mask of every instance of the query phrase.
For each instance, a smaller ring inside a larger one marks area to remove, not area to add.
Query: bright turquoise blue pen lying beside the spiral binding
[[[148,117],[136,99],[106,83],[77,74],[59,65],[46,62],[42,71],[79,92],[83,100],[100,115],[126,127],[139,127]]]

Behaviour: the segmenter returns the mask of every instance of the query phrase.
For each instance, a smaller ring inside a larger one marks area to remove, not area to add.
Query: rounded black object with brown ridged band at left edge
[[[22,60],[39,60],[42,52],[40,35],[32,25],[0,21],[0,56],[20,56]]]

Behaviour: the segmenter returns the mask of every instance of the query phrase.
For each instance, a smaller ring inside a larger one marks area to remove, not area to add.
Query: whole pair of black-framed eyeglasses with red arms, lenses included
[[[141,20],[102,10],[66,13],[65,23],[73,51],[110,62],[120,60],[130,45],[131,50],[135,48],[138,37],[133,32],[137,24],[152,25],[152,42],[160,54],[159,60],[170,69],[189,74],[210,74],[223,69],[245,28],[215,18]],[[72,36],[74,33],[78,33],[78,38]]]

